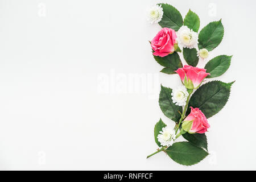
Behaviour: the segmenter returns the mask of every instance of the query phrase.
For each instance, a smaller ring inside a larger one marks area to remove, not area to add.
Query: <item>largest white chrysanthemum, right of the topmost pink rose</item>
[[[178,44],[189,49],[196,48],[198,44],[197,32],[190,30],[187,26],[180,27],[177,31]]]

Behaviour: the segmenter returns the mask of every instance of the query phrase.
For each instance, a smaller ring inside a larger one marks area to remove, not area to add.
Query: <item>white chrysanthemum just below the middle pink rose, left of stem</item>
[[[185,86],[179,86],[176,89],[172,90],[172,101],[176,103],[178,106],[186,105],[186,101],[188,98],[188,91]]]

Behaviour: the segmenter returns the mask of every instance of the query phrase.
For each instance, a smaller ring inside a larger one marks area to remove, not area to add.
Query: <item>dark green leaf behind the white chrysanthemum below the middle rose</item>
[[[161,85],[159,106],[163,111],[164,115],[166,115],[166,117],[172,119],[177,123],[180,119],[179,111],[180,113],[182,112],[182,107],[174,104],[174,102],[172,101],[171,93],[172,89]]]

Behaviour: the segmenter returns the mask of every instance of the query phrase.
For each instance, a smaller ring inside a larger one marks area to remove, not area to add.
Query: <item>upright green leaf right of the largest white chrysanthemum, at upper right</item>
[[[224,27],[221,20],[218,22],[210,22],[199,33],[199,49],[206,48],[208,51],[212,51],[221,43],[224,35]]]

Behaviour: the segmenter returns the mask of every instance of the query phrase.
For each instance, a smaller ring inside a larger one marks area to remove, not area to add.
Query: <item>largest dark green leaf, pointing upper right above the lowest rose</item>
[[[212,117],[226,105],[233,83],[234,82],[230,82],[226,84],[221,81],[207,82],[193,93],[189,100],[188,107],[199,107],[205,117]],[[191,109],[187,110],[187,115],[190,111]]]

